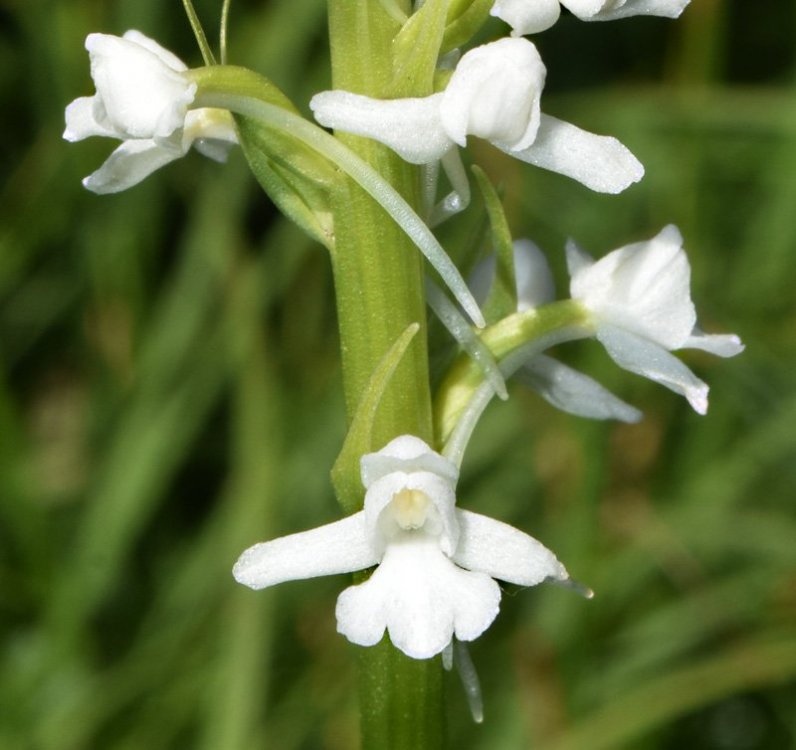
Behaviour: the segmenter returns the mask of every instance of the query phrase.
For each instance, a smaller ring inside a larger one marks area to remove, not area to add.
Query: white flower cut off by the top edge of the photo
[[[511,26],[512,36],[549,29],[561,6],[581,21],[614,21],[629,16],[677,18],[691,0],[495,0],[490,11]]]

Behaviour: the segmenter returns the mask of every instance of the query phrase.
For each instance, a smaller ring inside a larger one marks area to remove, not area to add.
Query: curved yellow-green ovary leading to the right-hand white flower
[[[573,300],[554,302],[514,313],[479,332],[483,344],[501,363],[508,377],[524,357],[564,341],[593,334],[589,314]],[[504,367],[508,365],[508,369]],[[460,354],[448,370],[434,398],[434,427],[437,445],[446,445],[459,419],[484,381],[483,368],[466,353]]]

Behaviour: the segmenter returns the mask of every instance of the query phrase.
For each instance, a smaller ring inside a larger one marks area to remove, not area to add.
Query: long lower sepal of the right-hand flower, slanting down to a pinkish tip
[[[600,325],[597,338],[620,367],[684,395],[698,414],[708,410],[708,386],[659,344],[611,325]]]

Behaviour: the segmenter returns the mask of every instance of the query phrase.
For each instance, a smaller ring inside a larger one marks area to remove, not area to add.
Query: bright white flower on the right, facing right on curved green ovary
[[[699,414],[708,386],[677,357],[677,349],[703,349],[733,357],[744,345],[733,334],[707,335],[696,324],[691,268],[677,227],[614,250],[595,262],[567,244],[572,299],[590,313],[597,339],[622,368],[683,394]]]

